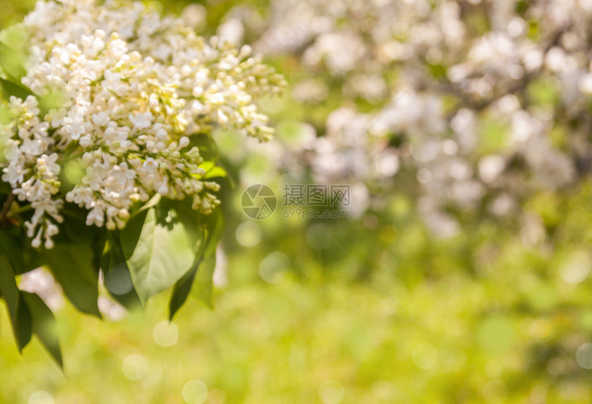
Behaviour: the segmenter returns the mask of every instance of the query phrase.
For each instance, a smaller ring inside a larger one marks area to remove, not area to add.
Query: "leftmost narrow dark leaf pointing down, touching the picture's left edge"
[[[17,346],[21,352],[31,340],[31,314],[23,301],[21,291],[17,288],[17,281],[14,280],[10,262],[3,256],[0,257],[0,291],[8,305],[14,339],[17,340]]]

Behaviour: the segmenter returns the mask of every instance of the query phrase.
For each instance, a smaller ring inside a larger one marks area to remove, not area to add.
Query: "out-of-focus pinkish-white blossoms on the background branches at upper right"
[[[317,182],[383,191],[411,173],[428,226],[454,235],[451,206],[520,213],[523,195],[569,187],[590,167],[590,1],[271,4],[257,50],[321,73],[290,76],[295,100],[341,99],[312,143],[278,156],[286,172],[306,162]]]

